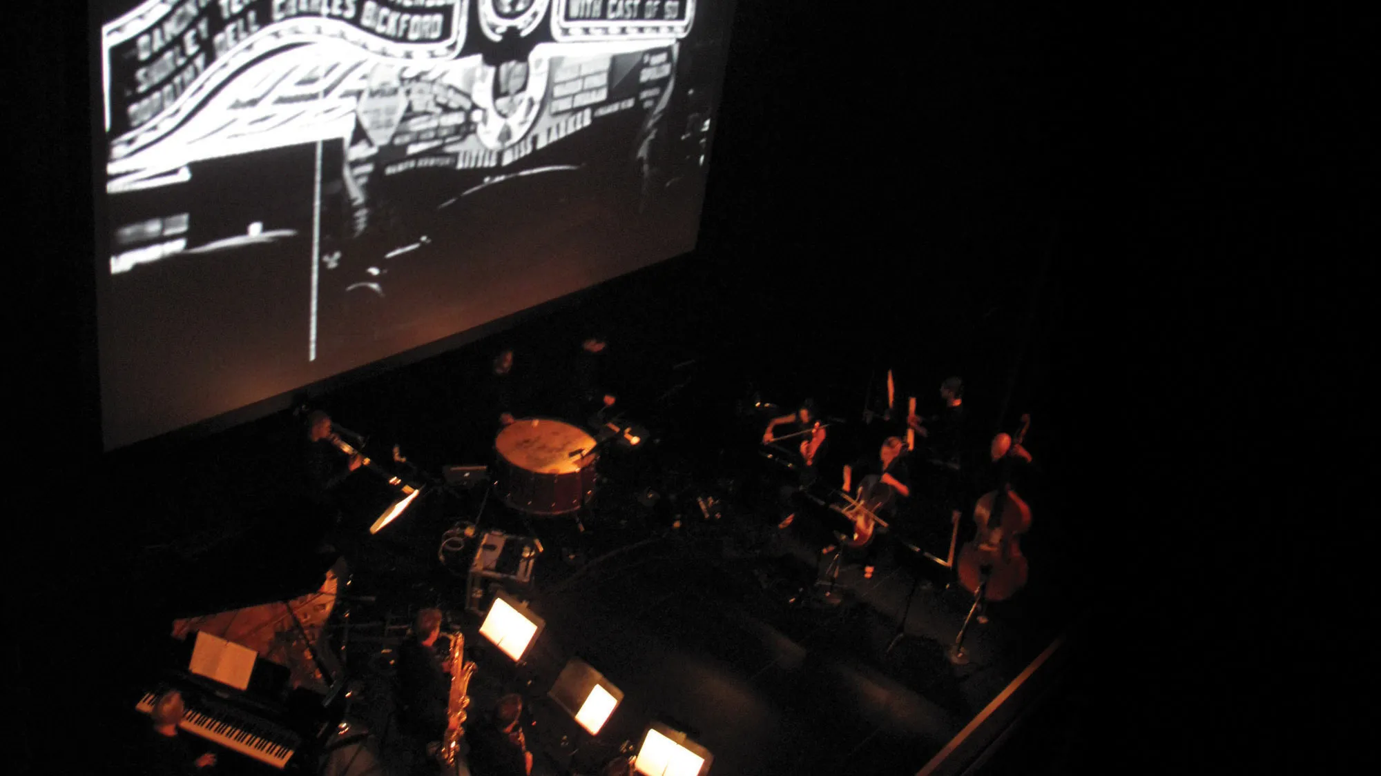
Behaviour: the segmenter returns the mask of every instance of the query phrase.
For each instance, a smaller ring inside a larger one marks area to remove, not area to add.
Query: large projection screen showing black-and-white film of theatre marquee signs
[[[105,8],[108,449],[695,247],[722,0]]]

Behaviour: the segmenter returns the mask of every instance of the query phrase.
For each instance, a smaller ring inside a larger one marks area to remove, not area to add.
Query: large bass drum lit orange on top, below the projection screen
[[[530,515],[565,515],[595,493],[595,439],[551,418],[523,418],[494,439],[494,494]]]

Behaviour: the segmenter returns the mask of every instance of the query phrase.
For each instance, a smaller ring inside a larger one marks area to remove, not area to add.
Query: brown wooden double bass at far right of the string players
[[[1022,427],[1004,456],[1015,454],[1029,428],[1030,416],[1022,416]],[[978,533],[960,552],[958,581],[976,595],[986,579],[983,598],[1005,601],[1026,584],[1027,563],[1019,539],[1032,527],[1032,510],[1004,476],[974,505],[974,522]]]

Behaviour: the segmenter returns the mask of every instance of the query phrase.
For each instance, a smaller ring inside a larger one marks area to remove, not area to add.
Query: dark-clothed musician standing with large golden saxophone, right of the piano
[[[439,741],[450,725],[450,675],[436,653],[441,638],[439,609],[423,609],[413,632],[398,648],[398,683],[402,729],[421,747]]]

